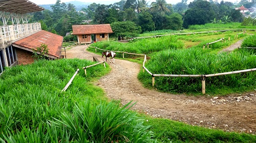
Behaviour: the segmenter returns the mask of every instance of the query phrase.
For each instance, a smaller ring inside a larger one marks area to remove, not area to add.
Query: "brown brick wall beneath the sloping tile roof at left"
[[[16,53],[18,65],[27,65],[34,63],[34,58],[32,58],[32,52],[16,48]]]

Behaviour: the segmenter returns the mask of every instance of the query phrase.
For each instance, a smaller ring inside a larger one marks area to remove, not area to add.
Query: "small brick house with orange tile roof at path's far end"
[[[110,24],[72,25],[72,29],[79,44],[109,40],[109,34],[113,33]]]

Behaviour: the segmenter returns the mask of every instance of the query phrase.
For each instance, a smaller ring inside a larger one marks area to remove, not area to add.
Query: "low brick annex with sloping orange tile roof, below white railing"
[[[42,43],[48,46],[49,53],[46,55],[50,60],[59,59],[61,56],[62,41],[62,36],[41,30],[13,42],[12,47],[15,48],[18,65],[27,65],[34,62],[35,59],[32,57],[33,49],[40,47]]]

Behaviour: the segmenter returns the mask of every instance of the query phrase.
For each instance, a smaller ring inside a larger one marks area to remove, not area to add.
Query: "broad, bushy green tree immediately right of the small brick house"
[[[118,37],[136,37],[141,33],[141,27],[132,21],[119,21],[111,23],[114,35]]]

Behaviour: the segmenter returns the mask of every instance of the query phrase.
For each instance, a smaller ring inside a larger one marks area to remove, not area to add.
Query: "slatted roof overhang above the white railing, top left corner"
[[[10,13],[31,13],[45,10],[27,0],[0,0],[0,11]]]

